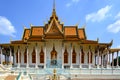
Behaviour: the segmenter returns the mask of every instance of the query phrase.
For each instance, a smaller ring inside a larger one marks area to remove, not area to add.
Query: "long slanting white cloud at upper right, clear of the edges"
[[[100,22],[104,20],[106,17],[108,17],[110,14],[108,12],[110,11],[112,6],[105,6],[104,8],[99,9],[97,12],[93,12],[91,14],[88,14],[86,16],[86,21],[92,21],[92,22]]]

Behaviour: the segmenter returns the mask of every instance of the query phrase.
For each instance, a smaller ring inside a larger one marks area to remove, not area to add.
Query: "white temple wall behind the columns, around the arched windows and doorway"
[[[55,50],[57,51],[57,59],[58,60],[61,60],[62,59],[62,40],[46,40],[45,42],[37,42],[37,62],[38,62],[38,65],[43,65],[43,64],[40,64],[40,51],[41,51],[41,46],[43,47],[43,51],[45,53],[45,44],[46,44],[46,56],[45,58],[46,59],[51,59],[51,51],[53,50],[53,44],[55,45]],[[72,46],[75,47],[75,52],[77,54],[76,56],[76,63],[73,64],[73,65],[79,65],[80,63],[80,45],[77,43],[77,42],[64,42],[64,50],[65,50],[65,46],[67,46],[67,51],[68,51],[68,64],[65,64],[65,65],[70,65],[71,63],[71,43],[72,43]],[[24,52],[25,52],[25,45],[19,45],[20,46],[20,51],[21,51],[21,65],[25,65],[24,63]],[[32,52],[33,52],[33,48],[36,46],[36,43],[35,42],[32,42],[28,45],[28,53],[29,53],[29,65],[35,65],[35,63],[32,63]],[[84,57],[84,64],[88,64],[88,57],[87,57],[87,53],[89,51],[89,45],[83,45],[83,50],[84,50],[84,53],[85,53],[85,57]],[[15,64],[16,64],[16,52],[17,52],[17,49],[18,49],[18,45],[14,47],[14,59],[15,59]],[[95,63],[95,59],[94,59],[94,46],[92,47],[92,53],[93,53],[93,64]],[[64,57],[64,56],[63,56]],[[64,59],[64,58],[63,58]]]

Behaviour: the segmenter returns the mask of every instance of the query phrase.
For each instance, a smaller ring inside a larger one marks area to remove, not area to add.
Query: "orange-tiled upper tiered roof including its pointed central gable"
[[[86,40],[85,28],[64,26],[60,23],[54,8],[47,24],[44,26],[31,26],[30,29],[24,29],[22,41],[42,41],[46,39],[62,39],[65,41]]]

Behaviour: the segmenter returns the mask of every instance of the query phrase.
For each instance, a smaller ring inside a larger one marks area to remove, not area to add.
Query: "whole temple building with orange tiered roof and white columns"
[[[30,25],[24,28],[21,40],[0,44],[0,63],[37,69],[119,68],[120,49],[111,49],[112,44],[113,40],[100,43],[99,39],[87,39],[84,26],[64,26],[53,7],[46,24]],[[117,53],[117,66],[114,66],[114,53]]]

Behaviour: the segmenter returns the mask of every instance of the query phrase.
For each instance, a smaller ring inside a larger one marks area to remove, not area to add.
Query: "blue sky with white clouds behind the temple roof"
[[[120,0],[56,0],[64,25],[86,25],[87,39],[113,40],[120,47]],[[0,43],[20,40],[24,26],[44,25],[52,14],[53,0],[0,0]]]

